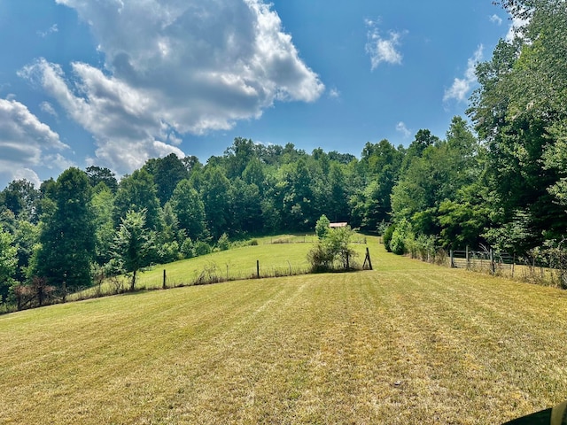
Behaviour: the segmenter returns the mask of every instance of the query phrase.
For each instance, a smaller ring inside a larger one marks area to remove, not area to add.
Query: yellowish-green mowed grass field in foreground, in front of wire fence
[[[567,292],[395,257],[0,317],[0,423],[501,423],[567,398]]]

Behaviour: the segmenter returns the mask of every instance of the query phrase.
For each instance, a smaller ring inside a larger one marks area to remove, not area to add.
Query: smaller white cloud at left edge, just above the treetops
[[[29,169],[31,166],[57,165],[50,159],[63,158],[58,152],[68,148],[59,140],[59,135],[38,120],[25,104],[14,99],[0,99],[0,170],[4,177],[29,176],[33,173]],[[34,175],[33,180],[39,180]]]

